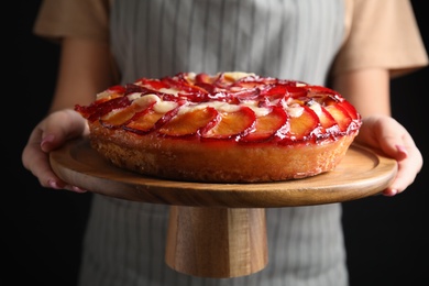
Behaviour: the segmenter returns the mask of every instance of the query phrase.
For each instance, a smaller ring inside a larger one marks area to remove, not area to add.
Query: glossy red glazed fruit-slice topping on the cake
[[[167,89],[176,92],[168,94]],[[145,95],[174,101],[177,107],[165,113],[156,111],[155,99],[140,100]],[[184,105],[209,101],[240,107],[230,111],[204,107],[179,112]],[[268,113],[256,117],[244,105],[248,101],[255,101]],[[312,109],[316,102],[320,108]],[[289,116],[288,107],[297,105],[302,108],[299,116]],[[255,75],[235,80],[230,73],[198,74],[195,78],[187,73],[161,79],[141,78],[134,84],[110,87],[91,105],[77,105],[75,110],[89,121],[99,120],[106,128],[140,135],[156,132],[160,136],[241,143],[289,144],[333,139],[356,132],[362,123],[355,108],[329,88]]]

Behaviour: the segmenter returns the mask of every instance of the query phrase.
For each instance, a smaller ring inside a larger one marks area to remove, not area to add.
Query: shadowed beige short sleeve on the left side
[[[109,0],[44,0],[34,34],[59,41],[65,36],[109,41]]]

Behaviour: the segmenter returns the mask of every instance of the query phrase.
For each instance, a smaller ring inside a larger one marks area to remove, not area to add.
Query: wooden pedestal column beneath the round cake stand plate
[[[265,209],[172,206],[166,264],[201,277],[237,277],[268,262]]]

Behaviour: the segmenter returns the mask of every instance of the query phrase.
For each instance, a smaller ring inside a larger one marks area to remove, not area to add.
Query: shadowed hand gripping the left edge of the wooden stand
[[[85,193],[85,189],[69,185],[53,172],[50,152],[88,133],[87,121],[76,111],[64,109],[53,112],[33,129],[22,152],[22,163],[43,187]]]

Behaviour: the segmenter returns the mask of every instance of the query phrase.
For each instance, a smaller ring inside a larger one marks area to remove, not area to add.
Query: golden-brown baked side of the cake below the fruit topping
[[[90,118],[82,109],[78,111]],[[349,123],[352,128],[330,130],[329,135],[318,127],[319,135],[312,132],[299,140],[278,135],[276,140],[240,141],[244,133],[202,140],[197,134],[165,135],[157,132],[161,125],[142,134],[112,128],[100,118],[88,120],[90,144],[116,166],[164,179],[207,183],[278,182],[332,170],[361,124],[356,113]]]

